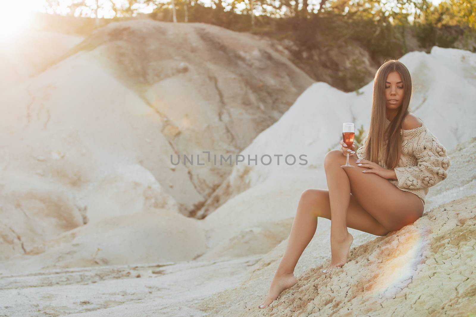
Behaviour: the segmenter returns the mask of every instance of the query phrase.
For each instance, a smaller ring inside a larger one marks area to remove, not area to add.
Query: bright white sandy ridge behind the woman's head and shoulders
[[[413,80],[410,108],[446,148],[463,142],[471,135],[468,131],[472,131],[472,121],[476,120],[476,112],[469,110],[475,106],[472,94],[476,89],[476,55],[460,49],[433,47],[429,54],[410,52],[400,60],[408,67]],[[294,154],[296,157],[306,154],[308,163],[299,165],[297,160],[296,164],[288,165],[283,163],[283,156],[279,164],[274,159],[269,165],[234,166],[228,178],[198,211],[198,218],[206,217],[238,193],[268,179],[322,166],[328,149],[340,148],[343,122],[354,122],[356,129],[362,126],[367,131],[372,89],[372,81],[350,93],[322,82],[307,88],[275,124],[260,133],[240,154],[258,155],[258,162],[265,154]]]

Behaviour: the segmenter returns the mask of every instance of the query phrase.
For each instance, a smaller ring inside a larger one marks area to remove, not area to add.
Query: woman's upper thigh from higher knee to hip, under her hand
[[[327,155],[336,167],[344,165],[346,156],[339,150]],[[357,202],[385,228],[394,231],[413,223],[423,214],[423,205],[417,195],[404,192],[387,179],[373,173],[362,173],[366,167],[357,166],[357,158],[349,157],[354,168],[344,168],[350,182],[350,192]]]

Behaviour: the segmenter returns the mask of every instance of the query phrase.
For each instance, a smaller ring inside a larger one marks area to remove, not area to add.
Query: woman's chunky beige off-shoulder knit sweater
[[[386,119],[385,128],[389,124],[390,121]],[[401,129],[400,134],[402,135],[400,160],[394,168],[397,179],[388,181],[402,191],[417,195],[425,206],[428,188],[448,176],[446,170],[450,165],[450,158],[446,155],[446,148],[428,130],[424,122],[415,129]],[[361,160],[367,159],[365,153],[367,136],[356,151],[357,157]],[[378,162],[378,165],[387,168],[385,162]]]

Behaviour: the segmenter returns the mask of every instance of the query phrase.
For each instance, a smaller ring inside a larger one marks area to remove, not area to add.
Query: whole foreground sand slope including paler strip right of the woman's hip
[[[330,261],[330,221],[319,219],[316,235],[296,267],[298,284],[283,292],[268,311],[258,306],[268,294],[288,239],[250,268],[238,287],[214,294],[196,307],[206,311],[205,316],[287,316],[291,312],[295,316],[355,316],[357,312],[385,316],[388,309],[398,312],[397,316],[471,312],[476,191],[468,189],[474,172],[467,171],[467,162],[476,155],[476,137],[450,149],[448,155],[452,158],[449,181],[430,189],[424,216],[385,237],[349,228],[354,242],[342,268],[322,273]],[[451,194],[444,198],[444,193]],[[433,288],[446,295],[439,298],[440,294],[429,291]],[[230,306],[231,301],[235,304]],[[458,308],[453,309],[453,304]]]

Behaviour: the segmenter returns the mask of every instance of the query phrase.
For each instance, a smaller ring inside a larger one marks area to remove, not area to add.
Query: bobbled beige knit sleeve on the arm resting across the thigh
[[[417,159],[417,166],[394,168],[398,187],[422,189],[446,179],[450,158],[446,156],[446,148],[429,130],[418,137],[413,154]]]

